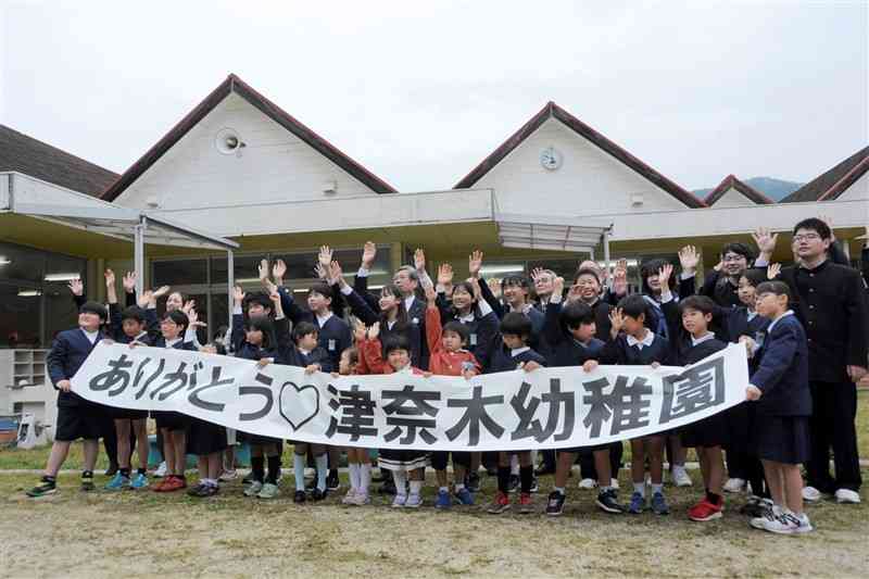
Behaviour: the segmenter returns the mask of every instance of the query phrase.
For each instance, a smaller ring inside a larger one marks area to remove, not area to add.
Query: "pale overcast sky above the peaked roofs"
[[[866,1],[133,4],[0,0],[0,123],[121,173],[234,72],[405,191],[549,100],[689,189],[869,142]]]

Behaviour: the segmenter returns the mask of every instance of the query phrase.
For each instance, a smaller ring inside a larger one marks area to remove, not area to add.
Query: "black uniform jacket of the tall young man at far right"
[[[866,367],[869,355],[869,313],[860,273],[827,260],[815,269],[785,267],[780,278],[791,288],[791,310],[805,329],[809,379],[848,381],[845,366]]]

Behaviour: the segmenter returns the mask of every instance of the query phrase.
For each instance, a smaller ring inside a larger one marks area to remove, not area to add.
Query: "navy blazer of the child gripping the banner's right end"
[[[764,394],[757,412],[772,416],[811,415],[808,388],[808,348],[803,325],[794,315],[780,318],[755,354],[757,369],[751,382]]]

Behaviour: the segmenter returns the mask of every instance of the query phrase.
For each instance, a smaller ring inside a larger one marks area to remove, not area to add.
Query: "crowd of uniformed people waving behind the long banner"
[[[831,232],[823,222],[801,222],[794,228],[797,267],[807,267],[807,257],[815,259],[810,252],[802,251],[801,246],[813,236],[824,241],[820,244],[824,255],[832,251]],[[760,257],[768,260],[774,236],[759,231],[755,239]],[[263,261],[260,279],[264,291],[245,294],[241,288],[235,290],[232,327],[226,341],[228,349],[235,356],[256,361],[260,365],[286,364],[302,367],[306,373],[412,373],[470,378],[481,373],[519,368],[534,372],[543,366],[581,367],[580,372],[592,372],[597,364],[684,366],[723,350],[728,342],[742,342],[751,370],[745,403],[677,431],[630,440],[632,489],[628,504],[618,500],[619,442],[559,449],[549,457],[544,454],[544,465],[537,474],[533,466],[537,453],[532,451],[481,455],[383,449],[376,453],[376,460],[380,471],[391,475],[386,477],[383,487],[387,492],[394,492],[393,507],[416,508],[423,504],[427,466],[433,467],[436,473],[436,507],[471,505],[479,491],[478,473],[483,464],[498,477],[498,491],[488,507],[490,513],[512,508],[509,496],[514,490],[519,491],[518,511],[532,512],[531,494],[538,487],[537,476],[552,471],[554,486],[545,513],[557,516],[564,512],[567,479],[579,456],[581,461],[584,458],[580,486],[597,487],[596,505],[602,511],[640,514],[650,509],[666,515],[670,507],[664,491],[665,452],[669,453],[673,481],[685,486],[691,484],[684,471],[685,449],[693,446],[700,461],[704,493],[688,512],[692,520],[721,517],[723,492],[750,487],[752,495],[743,512],[752,516],[752,526],[779,533],[811,530],[803,508],[799,465],[810,460],[814,443],[809,365],[823,362],[810,360],[810,339],[801,324],[806,314],[804,300],[797,295],[799,281],[794,285],[774,279],[780,275],[774,265],[768,269],[751,267],[754,255],[746,246],[725,247],[720,263],[707,276],[698,293],[694,278],[700,255],[692,247],[679,252],[678,279],[673,265],[665,260],[643,264],[642,291],[634,294],[627,291],[625,262],[617,263],[608,286],[608,272],[591,261],[580,264],[569,287],[563,278],[545,269],[534,269],[531,280],[524,275],[511,275],[492,282],[483,279],[482,253],[475,251],[468,260],[469,277],[455,282],[449,264],[442,264],[437,279],[432,280],[426,272],[426,256],[421,250],[415,252],[413,266],[400,268],[391,285],[373,293],[368,291],[367,279],[375,257],[375,244],[366,243],[362,265],[351,286],[344,279],[341,265],[332,260],[331,250],[322,248],[317,266],[320,281],[307,291],[307,310],[298,306],[292,291],[284,286],[287,270],[284,262]],[[103,326],[106,312],[101,304],[81,304],[79,327],[61,332],[49,355],[52,381],[61,390],[58,430],[46,475],[30,491],[33,496],[54,492],[58,469],[70,442],[77,438],[85,439],[83,488],[93,488],[92,469],[99,436],[92,426],[93,418],[106,413],[115,419],[119,465],[106,489],[148,486],[147,413],[101,407],[70,392],[70,378],[99,340],[156,348],[198,348],[191,330],[191,320],[197,320],[194,307],[185,303],[184,297],[169,294],[166,314],[158,322],[156,300],[168,293],[168,288],[146,292],[138,299],[129,297],[128,301],[137,303],[122,313],[114,290],[114,274],[106,272],[105,280],[110,323]],[[135,280],[133,282],[135,285]],[[537,301],[531,299],[532,285]],[[130,288],[127,278],[124,287]],[[854,313],[862,315],[865,323],[862,288],[857,299],[861,305],[857,304],[858,311]],[[352,322],[345,319],[347,312],[351,314],[347,318]],[[810,333],[814,320],[809,319],[808,324]],[[848,365],[848,376],[855,381],[862,376],[860,370],[866,372],[865,326],[861,331],[862,338],[851,336],[846,340],[857,355],[862,356],[861,364]],[[226,354],[221,343],[199,349]],[[848,361],[854,362],[851,357]],[[186,454],[191,453],[199,457],[200,482],[188,492],[194,496],[216,493],[222,456],[229,446],[226,429],[176,413],[152,414],[156,415],[153,417],[162,435],[162,452],[167,465],[166,476],[152,487],[153,490],[171,492],[186,488]],[[284,441],[244,432],[237,435],[251,449],[251,476],[244,494],[261,499],[277,496]],[[135,476],[130,469],[131,438],[139,449],[139,468]],[[342,451],[347,452],[350,475],[344,504],[370,502],[374,452],[294,442],[295,502],[322,500],[330,488],[338,486],[337,464]],[[727,483],[725,452],[731,471]],[[452,489],[448,475],[450,454]],[[308,490],[304,473],[312,457],[316,481]],[[840,457],[836,455],[836,458]],[[853,499],[847,493],[843,496]],[[840,502],[859,501],[859,495],[856,501],[842,500],[843,496],[836,491]]]

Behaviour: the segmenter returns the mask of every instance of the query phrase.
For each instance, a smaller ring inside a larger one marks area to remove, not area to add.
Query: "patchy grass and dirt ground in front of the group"
[[[693,473],[696,477],[698,473]],[[865,473],[865,476],[869,473]],[[101,479],[103,477],[98,477]],[[551,477],[536,495],[539,514],[489,515],[494,481],[479,506],[419,511],[376,499],[345,507],[342,494],[295,505],[291,477],[265,502],[241,495],[239,480],[207,500],[153,492],[81,493],[74,476],[38,501],[35,477],[0,475],[3,577],[866,577],[869,493],[860,505],[810,506],[817,531],[779,537],[752,530],[728,498],[723,519],[691,523],[695,489],[668,488],[672,514],[612,516],[594,492],[570,479],[564,516],[542,514]],[[627,480],[622,476],[622,484]],[[433,481],[428,483],[431,493]],[[341,493],[343,491],[340,491]],[[626,499],[622,492],[622,500]]]

